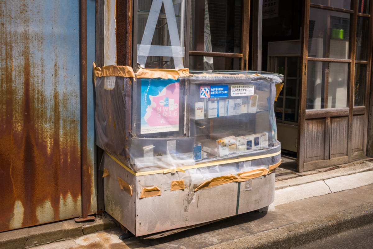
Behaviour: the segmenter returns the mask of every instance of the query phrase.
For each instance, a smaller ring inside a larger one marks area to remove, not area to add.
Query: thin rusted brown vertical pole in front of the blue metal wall
[[[76,222],[94,220],[88,217],[90,205],[91,176],[88,167],[87,152],[87,0],[80,0],[80,74],[81,74],[81,181],[82,181],[82,216]]]

